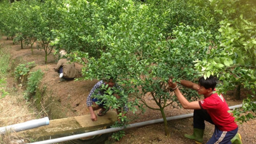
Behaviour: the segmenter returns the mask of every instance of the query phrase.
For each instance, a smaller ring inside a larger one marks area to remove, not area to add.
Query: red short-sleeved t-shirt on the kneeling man
[[[213,93],[210,97],[199,101],[199,105],[207,110],[219,130],[231,131],[238,127],[234,122],[234,117],[228,113],[230,109],[222,95]]]

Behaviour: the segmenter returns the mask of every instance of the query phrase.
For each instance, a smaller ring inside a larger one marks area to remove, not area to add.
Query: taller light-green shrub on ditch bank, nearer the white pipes
[[[43,77],[43,72],[41,70],[37,70],[35,72],[31,72],[30,76],[28,78],[28,82],[26,85],[26,90],[24,93],[24,98],[25,99],[30,99],[34,94],[35,91],[37,90],[37,87]]]

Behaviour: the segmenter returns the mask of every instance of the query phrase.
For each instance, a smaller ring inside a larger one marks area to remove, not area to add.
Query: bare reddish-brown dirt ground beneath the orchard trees
[[[31,49],[26,46],[24,49],[20,48],[20,44],[14,44],[11,40],[7,40],[6,37],[0,39],[0,44],[4,48],[8,48],[11,53],[11,58],[22,59],[30,62],[35,61],[37,66],[33,70],[41,69],[44,72],[42,84],[47,86],[49,95],[55,97],[59,103],[60,113],[59,118],[72,117],[89,114],[86,106],[86,97],[90,92],[91,88],[97,83],[97,80],[93,81],[65,81],[59,82],[59,77],[54,72],[54,67],[57,64],[57,57],[52,54],[48,56],[48,63],[44,64],[44,51],[33,48],[33,55]],[[76,69],[81,71],[82,66],[75,64]],[[80,77],[78,75],[78,77]],[[13,83],[13,80],[8,78],[9,86],[19,87]],[[246,91],[242,91],[242,97],[245,98]],[[229,106],[241,104],[242,100],[234,101],[234,92],[230,91],[228,95],[224,96]],[[148,103],[154,103],[148,100]],[[193,113],[192,110],[184,110],[183,108],[171,108],[165,109],[167,117],[176,115]],[[135,115],[138,115],[136,113]],[[128,116],[133,116],[132,113],[128,113]],[[153,119],[160,119],[160,111],[153,111],[146,109],[143,115],[139,115],[139,118],[132,121],[131,123],[139,123],[142,121],[148,121]],[[152,124],[143,127],[137,127],[132,129],[126,129],[126,135],[120,141],[109,141],[111,144],[194,144],[193,141],[184,138],[185,133],[193,132],[193,118],[179,119],[168,121],[168,126],[171,135],[165,136],[163,124]],[[248,121],[242,125],[239,124],[239,133],[242,136],[243,144],[254,144],[256,143],[256,119]],[[214,126],[206,123],[206,129],[204,133],[204,143],[211,137],[214,130]]]

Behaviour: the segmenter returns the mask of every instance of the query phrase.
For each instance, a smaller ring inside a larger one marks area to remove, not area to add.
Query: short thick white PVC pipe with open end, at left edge
[[[19,123],[15,125],[10,125],[6,127],[0,128],[0,134],[5,134],[7,132],[19,132],[23,130],[33,129],[41,126],[49,125],[49,118],[44,117],[41,119],[34,119],[30,121],[26,121],[24,123]]]

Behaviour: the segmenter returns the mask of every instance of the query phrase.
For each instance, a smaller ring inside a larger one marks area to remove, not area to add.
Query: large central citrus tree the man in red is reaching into
[[[211,32],[180,24],[167,33],[169,19],[166,17],[170,9],[159,13],[153,4],[123,3],[116,6],[116,12],[120,13],[118,18],[110,15],[109,18],[115,21],[107,23],[106,27],[103,25],[98,33],[96,41],[105,50],[100,51],[99,58],[86,55],[88,63],[82,70],[84,78],[116,77],[117,83],[128,93],[121,101],[129,98],[131,101],[127,105],[131,111],[136,110],[133,102],[138,102],[135,105],[140,107],[145,105],[159,110],[166,135],[169,135],[164,108],[175,106],[177,99],[166,82],[169,76],[189,80],[197,77],[193,61],[203,59],[209,52]],[[116,3],[108,4],[106,6],[112,8]],[[197,97],[192,91],[186,90],[186,93],[190,94],[186,95],[188,99]],[[155,101],[156,107],[147,104],[148,98]]]

